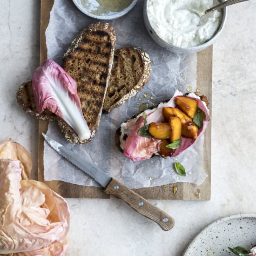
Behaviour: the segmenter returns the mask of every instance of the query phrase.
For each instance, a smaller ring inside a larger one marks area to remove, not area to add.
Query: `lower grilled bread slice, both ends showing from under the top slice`
[[[116,50],[103,111],[108,113],[133,97],[148,81],[150,72],[151,61],[148,54],[141,49],[124,47]],[[53,121],[57,118],[47,109],[42,114],[37,112],[34,104],[32,81],[20,86],[16,99],[24,111],[38,119]]]

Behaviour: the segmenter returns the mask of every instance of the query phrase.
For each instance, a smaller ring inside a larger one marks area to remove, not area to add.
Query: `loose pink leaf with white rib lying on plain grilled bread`
[[[44,61],[34,72],[32,87],[39,113],[47,108],[66,121],[82,141],[90,138],[76,82],[60,65],[52,60]]]

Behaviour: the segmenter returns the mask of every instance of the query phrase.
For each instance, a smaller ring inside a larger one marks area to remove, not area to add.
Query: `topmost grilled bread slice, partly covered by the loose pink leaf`
[[[115,50],[115,30],[108,23],[93,23],[74,39],[63,57],[63,68],[76,82],[81,108],[91,131],[90,141],[99,126]],[[81,141],[65,121],[58,118],[67,141]]]

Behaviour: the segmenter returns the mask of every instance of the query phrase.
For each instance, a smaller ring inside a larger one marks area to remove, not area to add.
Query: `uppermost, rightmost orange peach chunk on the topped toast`
[[[194,117],[196,109],[198,107],[198,102],[195,99],[187,96],[177,96],[174,100],[176,107],[180,108],[191,118]]]

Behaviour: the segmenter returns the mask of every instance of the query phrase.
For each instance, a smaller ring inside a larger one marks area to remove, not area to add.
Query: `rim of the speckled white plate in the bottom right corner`
[[[201,235],[201,233],[205,230],[210,229],[212,226],[214,225],[218,225],[222,222],[226,222],[229,220],[234,220],[234,219],[238,219],[238,218],[256,218],[256,213],[240,213],[240,214],[234,214],[234,215],[229,215],[223,218],[220,218],[214,222],[211,222],[209,225],[207,225],[205,228],[203,228],[199,233],[197,233],[192,239],[191,242],[188,244],[188,246],[186,247],[186,249],[184,250],[182,256],[186,256],[188,250],[193,246],[193,244],[195,243],[195,240],[197,240],[197,238]]]

